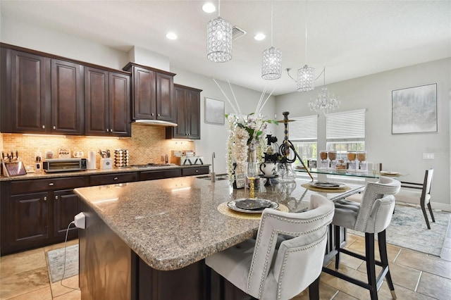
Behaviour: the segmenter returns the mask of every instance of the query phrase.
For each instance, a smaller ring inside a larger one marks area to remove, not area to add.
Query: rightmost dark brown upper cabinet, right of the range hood
[[[202,89],[174,85],[177,127],[166,127],[167,139],[200,139],[200,92]]]

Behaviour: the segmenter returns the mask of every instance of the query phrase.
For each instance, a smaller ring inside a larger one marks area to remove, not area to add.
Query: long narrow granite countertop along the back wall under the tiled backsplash
[[[127,168],[112,168],[112,169],[95,169],[95,170],[80,170],[72,172],[50,172],[46,173],[44,171],[37,173],[27,173],[27,175],[5,177],[0,176],[0,181],[13,181],[13,180],[28,180],[28,179],[44,179],[44,178],[58,178],[58,177],[72,177],[72,176],[84,176],[84,175],[98,175],[98,174],[110,174],[110,173],[130,173],[130,172],[145,172],[149,170],[167,170],[167,169],[177,169],[177,168],[199,168],[209,166],[209,164],[204,165],[161,165],[158,167],[149,168],[137,168],[137,167],[127,167]]]

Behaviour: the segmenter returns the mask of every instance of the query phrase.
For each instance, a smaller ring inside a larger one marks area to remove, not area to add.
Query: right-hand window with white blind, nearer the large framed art
[[[337,151],[337,159],[347,160],[348,151],[365,149],[365,109],[326,115],[327,151]]]

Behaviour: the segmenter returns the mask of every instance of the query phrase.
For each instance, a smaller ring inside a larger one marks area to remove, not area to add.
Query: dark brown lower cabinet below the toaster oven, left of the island
[[[84,187],[85,177],[61,179],[0,182],[1,255],[64,241],[68,225],[80,212],[73,189]],[[68,239],[77,237],[71,225]]]

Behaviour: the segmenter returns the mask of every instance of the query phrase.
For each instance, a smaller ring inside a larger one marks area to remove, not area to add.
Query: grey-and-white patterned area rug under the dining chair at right
[[[388,244],[440,256],[447,234],[451,213],[434,211],[435,223],[428,230],[421,208],[396,205],[392,221],[386,230]],[[428,213],[429,215],[429,213]],[[364,236],[362,232],[348,230],[353,235]]]

